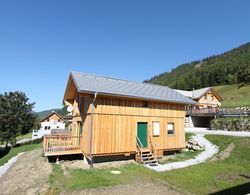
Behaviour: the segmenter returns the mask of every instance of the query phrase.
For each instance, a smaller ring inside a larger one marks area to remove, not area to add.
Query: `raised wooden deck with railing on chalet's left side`
[[[70,135],[45,135],[44,156],[82,154],[82,137]]]

